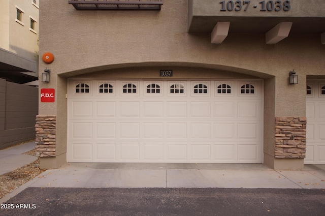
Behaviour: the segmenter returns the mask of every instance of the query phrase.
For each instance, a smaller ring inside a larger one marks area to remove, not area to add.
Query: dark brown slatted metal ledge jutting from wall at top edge
[[[161,0],[73,0],[69,1],[77,10],[160,10]]]

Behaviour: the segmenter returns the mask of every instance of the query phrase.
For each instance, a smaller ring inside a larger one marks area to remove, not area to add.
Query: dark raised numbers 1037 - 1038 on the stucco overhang
[[[289,11],[290,1],[221,1],[220,11]]]

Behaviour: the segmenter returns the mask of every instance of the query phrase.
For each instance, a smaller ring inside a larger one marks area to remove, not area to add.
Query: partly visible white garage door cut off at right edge
[[[325,80],[308,81],[305,164],[325,164]]]

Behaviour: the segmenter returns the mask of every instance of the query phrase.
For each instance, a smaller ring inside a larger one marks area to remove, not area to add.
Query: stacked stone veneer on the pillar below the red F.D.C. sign
[[[56,150],[56,116],[36,116],[36,155],[40,157],[55,157]]]

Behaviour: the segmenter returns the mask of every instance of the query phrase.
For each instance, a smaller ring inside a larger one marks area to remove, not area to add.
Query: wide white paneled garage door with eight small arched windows
[[[68,162],[262,163],[260,80],[69,80]]]

